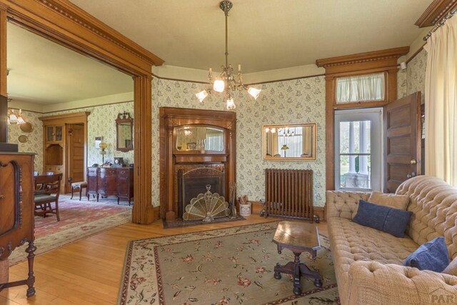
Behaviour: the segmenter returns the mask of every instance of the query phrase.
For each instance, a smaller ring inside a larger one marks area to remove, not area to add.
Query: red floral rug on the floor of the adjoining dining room
[[[128,202],[118,205],[116,198],[79,201],[79,196],[59,196],[60,221],[54,214],[35,216],[35,254],[43,254],[100,231],[111,229],[131,221],[131,206]],[[76,199],[75,199],[76,198]],[[28,244],[16,248],[9,256],[9,264],[26,260]]]

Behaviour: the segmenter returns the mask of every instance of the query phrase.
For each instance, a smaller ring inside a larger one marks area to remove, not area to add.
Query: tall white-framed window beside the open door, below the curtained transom
[[[381,190],[381,108],[335,111],[335,186]]]

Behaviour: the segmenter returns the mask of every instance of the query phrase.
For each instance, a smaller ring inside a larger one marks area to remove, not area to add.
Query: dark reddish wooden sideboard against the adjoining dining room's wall
[[[90,195],[117,196],[117,203],[125,199],[131,204],[134,197],[134,169],[131,167],[88,167],[87,199]]]

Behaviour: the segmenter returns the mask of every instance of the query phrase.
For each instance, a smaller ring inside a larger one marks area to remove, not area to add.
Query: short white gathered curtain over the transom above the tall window
[[[384,74],[338,77],[336,103],[381,101],[384,99]]]

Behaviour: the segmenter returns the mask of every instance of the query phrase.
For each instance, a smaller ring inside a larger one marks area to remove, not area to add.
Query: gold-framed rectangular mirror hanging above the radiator
[[[265,125],[263,159],[316,160],[316,123]]]

